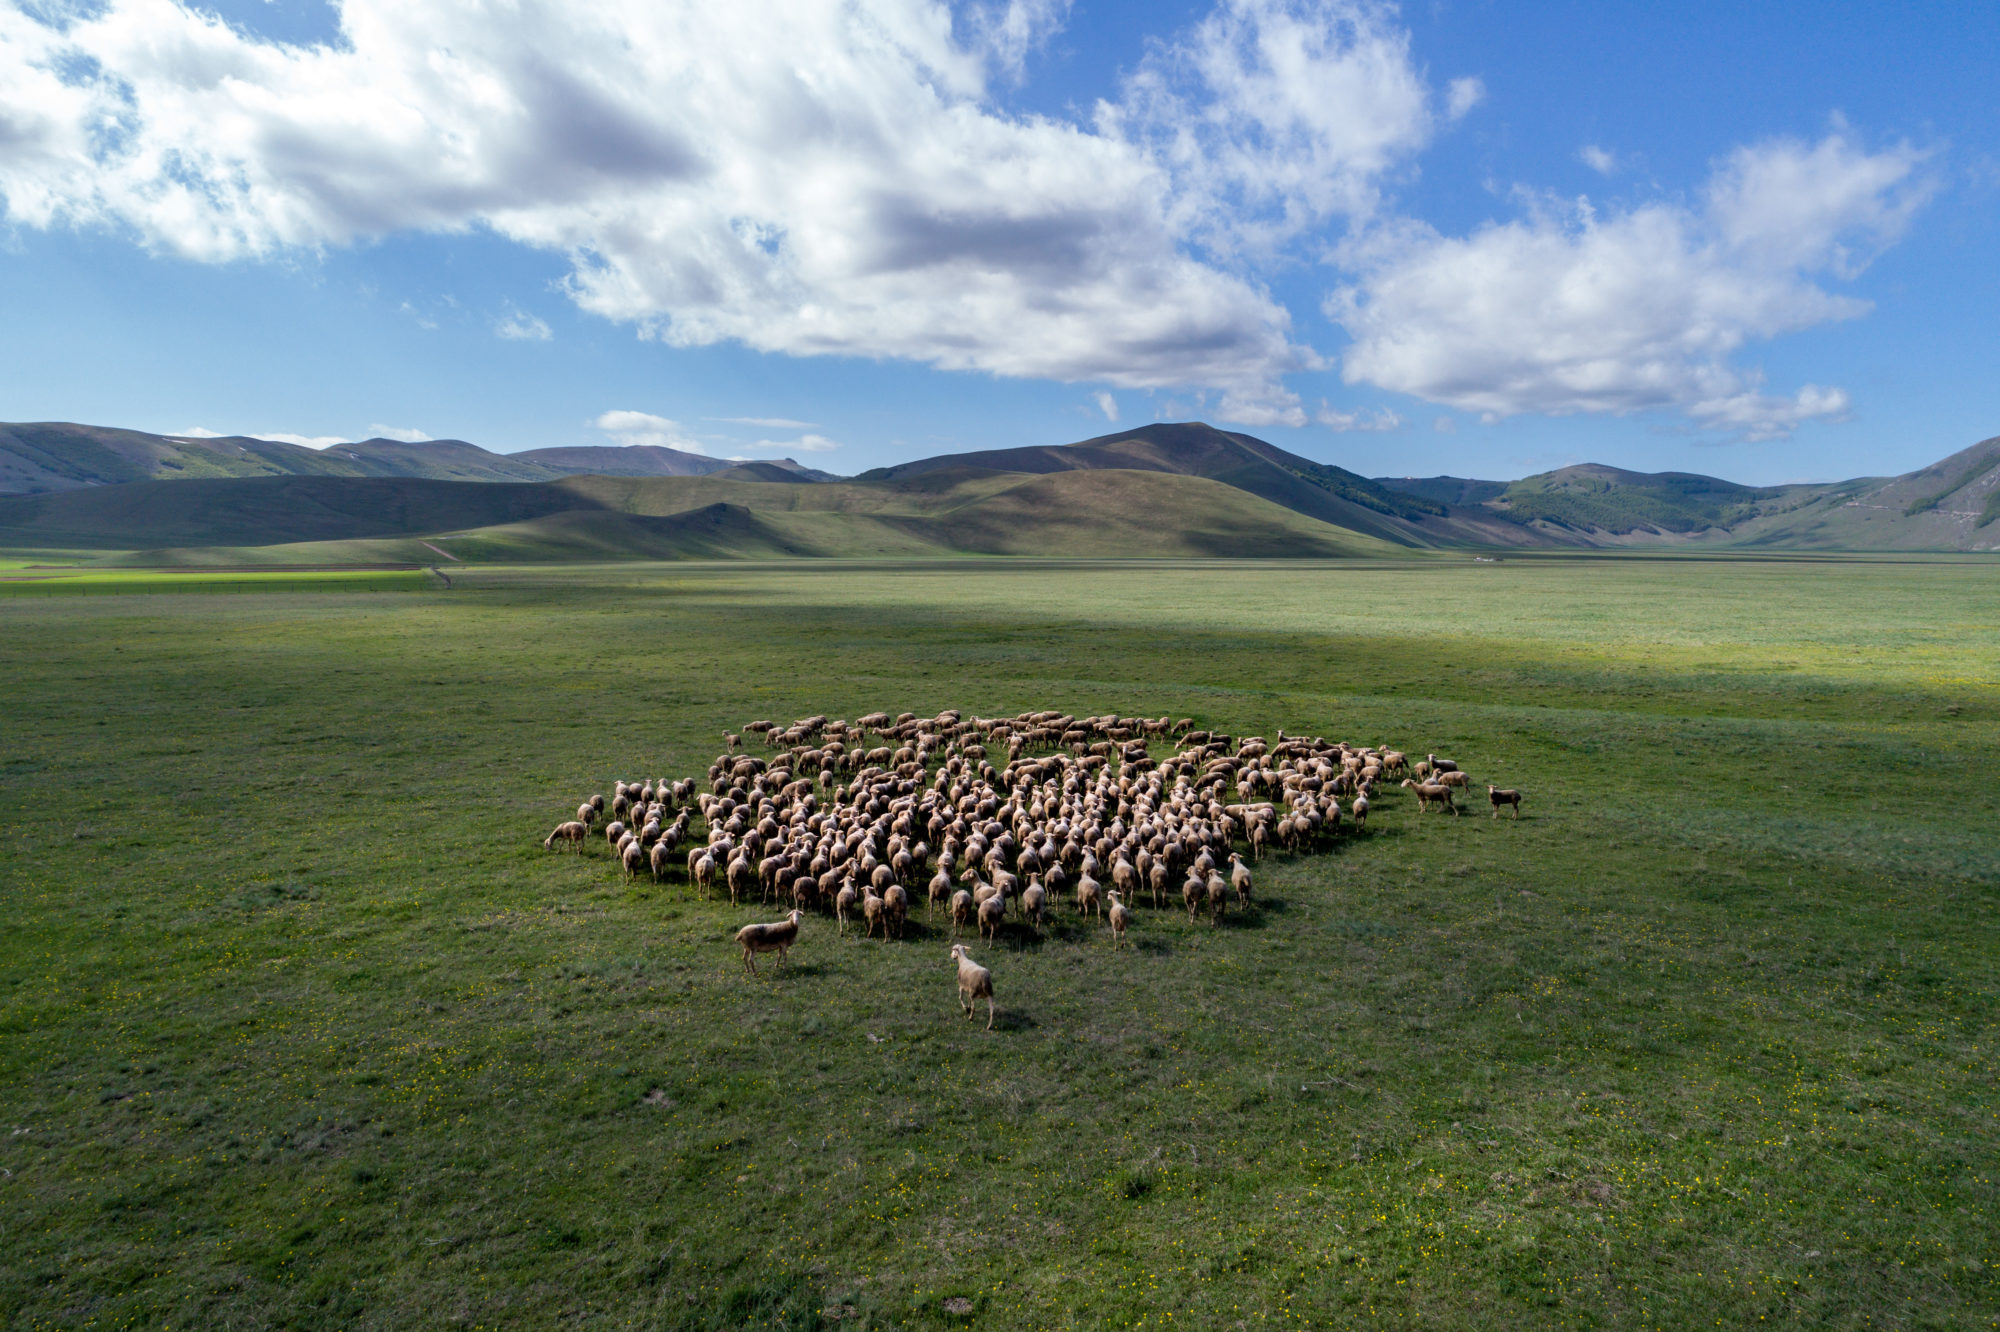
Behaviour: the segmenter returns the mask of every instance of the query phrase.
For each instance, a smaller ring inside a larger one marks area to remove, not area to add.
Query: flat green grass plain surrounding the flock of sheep
[[[1990,562],[450,572],[0,598],[10,1326],[2000,1314]],[[768,908],[540,848],[752,718],[944,706],[1528,804],[980,948],[994,1032],[936,926],[752,980]]]

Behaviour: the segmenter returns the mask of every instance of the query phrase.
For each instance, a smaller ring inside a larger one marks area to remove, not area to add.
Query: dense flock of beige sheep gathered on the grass
[[[1436,754],[1410,762],[1282,730],[1276,742],[1238,740],[1194,730],[1192,718],[872,712],[752,722],[744,734],[774,754],[746,754],[728,734],[706,790],[692,778],[618,782],[608,804],[590,796],[542,846],[582,850],[602,822],[626,878],[666,880],[686,848],[696,890],[790,902],[784,920],[736,932],[750,972],[758,952],[784,960],[808,910],[832,912],[842,932],[858,920],[868,936],[902,938],[920,886],[926,910],[950,914],[954,938],[976,928],[994,940],[1010,916],[1038,932],[1060,902],[1102,918],[1112,946],[1142,898],[1162,908],[1178,896],[1190,922],[1206,912],[1220,924],[1232,898],[1250,906],[1238,844],[1256,860],[1274,842],[1314,850],[1344,826],[1358,832],[1384,780],[1402,778],[1418,814],[1458,814],[1454,790],[1470,788]],[[1152,740],[1172,754],[1154,760]],[[1496,818],[1502,806],[1520,816],[1518,790],[1486,794]],[[960,1006],[972,1018],[984,998],[990,1030],[992,972],[964,944],[950,956]]]

